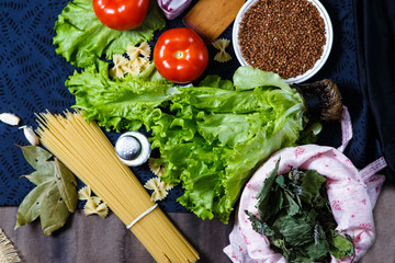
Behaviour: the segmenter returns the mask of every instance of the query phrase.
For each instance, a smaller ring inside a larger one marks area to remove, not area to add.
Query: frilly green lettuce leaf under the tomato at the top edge
[[[124,54],[126,45],[149,42],[154,32],[165,27],[166,20],[156,1],[151,1],[146,19],[137,28],[115,31],[104,26],[93,12],[91,0],[69,2],[55,23],[56,53],[74,66],[86,68],[103,55]]]

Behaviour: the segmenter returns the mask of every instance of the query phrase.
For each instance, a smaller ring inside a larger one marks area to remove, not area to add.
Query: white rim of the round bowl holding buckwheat
[[[244,59],[241,52],[240,52],[240,46],[238,43],[239,27],[240,27],[240,23],[241,23],[244,14],[258,0],[248,0],[241,7],[240,11],[238,12],[238,14],[236,16],[234,28],[233,28],[233,34],[232,34],[233,46],[235,49],[236,57],[239,60],[239,62],[241,64],[241,66],[249,66],[249,65]],[[324,66],[324,64],[328,59],[330,49],[332,46],[332,42],[334,42],[334,28],[332,28],[328,12],[325,10],[324,5],[318,0],[307,0],[307,1],[312,2],[317,8],[320,16],[324,19],[326,44],[324,46],[324,52],[323,52],[321,57],[315,62],[314,67],[311,68],[309,70],[307,70],[306,72],[304,72],[303,75],[300,75],[295,78],[286,79],[285,81],[289,83],[304,82],[307,79],[312,78],[315,73],[317,73],[318,70]]]

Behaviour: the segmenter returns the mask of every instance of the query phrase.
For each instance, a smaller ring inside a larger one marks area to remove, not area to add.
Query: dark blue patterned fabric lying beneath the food
[[[64,84],[75,68],[55,54],[52,44],[55,21],[66,4],[67,0],[0,0],[0,113],[15,113],[23,125],[36,127],[34,113],[46,110],[60,113],[75,104]],[[313,80],[330,78],[339,84],[343,103],[351,112],[354,133],[346,153],[358,168],[363,168],[374,160],[377,150],[368,140],[370,118],[358,84],[352,2],[325,0],[323,4],[331,18],[335,41],[329,60]],[[168,22],[165,30],[176,26],[182,26],[180,20]],[[230,36],[232,26],[222,37],[230,39]],[[219,64],[213,60],[215,50],[210,47],[211,62],[205,75],[232,79],[239,64],[232,47],[228,52],[232,61]],[[108,135],[112,141],[119,136]],[[340,126],[325,125],[319,144],[337,147],[340,141]],[[33,169],[15,145],[27,145],[23,132],[0,123],[0,205],[19,205],[33,187],[20,178]],[[134,172],[142,182],[153,175],[147,164]],[[179,187],[172,191],[160,206],[167,211],[184,210],[176,202],[181,193]]]

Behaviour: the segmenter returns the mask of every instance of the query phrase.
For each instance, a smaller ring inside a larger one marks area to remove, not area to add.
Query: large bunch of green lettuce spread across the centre
[[[272,72],[240,67],[234,82],[208,76],[181,88],[149,70],[113,80],[108,67],[101,61],[69,78],[75,107],[108,128],[144,125],[166,168],[161,180],[181,183],[178,202],[204,219],[227,222],[253,170],[304,129],[303,98]]]

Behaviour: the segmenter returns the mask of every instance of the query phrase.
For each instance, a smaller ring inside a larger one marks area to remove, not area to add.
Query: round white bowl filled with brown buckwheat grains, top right
[[[248,0],[236,16],[232,38],[242,66],[301,83],[328,59],[334,32],[318,0]]]

